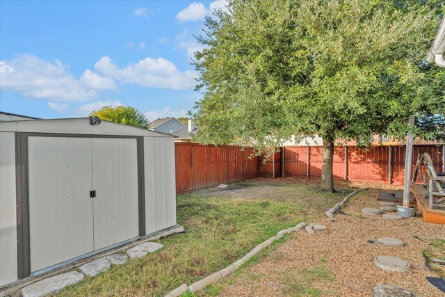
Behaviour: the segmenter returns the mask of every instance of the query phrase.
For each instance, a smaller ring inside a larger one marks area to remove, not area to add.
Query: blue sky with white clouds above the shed
[[[193,52],[225,1],[0,1],[0,111],[86,116],[129,105],[181,116],[200,94]]]

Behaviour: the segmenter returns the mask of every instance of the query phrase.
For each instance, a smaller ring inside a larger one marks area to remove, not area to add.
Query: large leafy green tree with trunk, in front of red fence
[[[439,25],[436,2],[231,1],[197,37],[197,140],[261,152],[291,135],[322,136],[322,188],[334,191],[335,141],[402,136],[410,115],[437,115],[428,100],[443,103],[444,89],[430,86],[444,76],[421,62]]]

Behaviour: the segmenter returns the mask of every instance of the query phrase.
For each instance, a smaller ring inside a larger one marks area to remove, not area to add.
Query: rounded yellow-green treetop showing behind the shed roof
[[[90,116],[97,115],[102,120],[118,122],[140,128],[149,128],[145,115],[131,106],[104,106],[102,109],[92,111]]]

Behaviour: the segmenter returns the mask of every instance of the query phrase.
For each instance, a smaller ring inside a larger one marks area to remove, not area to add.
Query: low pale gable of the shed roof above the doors
[[[102,120],[99,125],[90,125],[90,118],[63,118],[51,120],[18,120],[0,122],[0,131],[49,133],[49,134],[90,134],[117,136],[173,137],[148,129],[132,127]]]

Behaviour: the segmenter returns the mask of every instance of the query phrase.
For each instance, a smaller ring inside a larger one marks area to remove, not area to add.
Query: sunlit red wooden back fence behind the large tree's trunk
[[[412,170],[419,152],[428,152],[437,172],[444,171],[443,145],[414,145]],[[266,163],[261,163],[261,176],[300,175],[321,176],[323,163],[321,146],[286,146]],[[405,146],[334,147],[334,177],[351,181],[403,184]],[[421,166],[419,176],[426,173]]]

